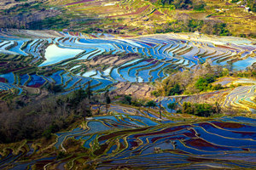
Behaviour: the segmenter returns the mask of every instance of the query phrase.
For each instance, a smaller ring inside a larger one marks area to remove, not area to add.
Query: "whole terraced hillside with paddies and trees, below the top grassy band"
[[[255,166],[253,38],[0,35],[1,168]]]

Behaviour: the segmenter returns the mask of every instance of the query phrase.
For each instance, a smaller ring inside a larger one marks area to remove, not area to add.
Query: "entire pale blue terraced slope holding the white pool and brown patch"
[[[4,84],[1,89],[17,89],[16,94],[22,92],[22,86],[42,88],[49,82],[61,85],[64,94],[86,88],[89,83],[98,92],[116,82],[154,82],[166,77],[168,69],[193,69],[206,59],[211,59],[213,65],[232,61],[235,69],[245,69],[256,61],[253,40],[237,37],[193,33],[91,37],[74,32],[5,29],[0,34],[2,68],[8,65],[9,59],[23,59],[22,63],[40,69],[26,71],[24,66],[0,75]],[[7,57],[10,55],[13,58]],[[249,102],[248,98],[242,100]]]

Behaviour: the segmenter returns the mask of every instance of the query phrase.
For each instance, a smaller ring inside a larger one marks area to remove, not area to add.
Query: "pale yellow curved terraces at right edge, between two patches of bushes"
[[[209,102],[214,103],[218,101],[218,103],[222,106],[222,108],[229,112],[234,110],[237,111],[248,111],[251,113],[256,113],[255,102],[253,101],[256,96],[256,81],[247,79],[247,78],[230,78],[224,77],[221,78],[218,82],[214,82],[215,84],[220,83],[222,85],[227,84],[244,84],[243,86],[239,86],[237,88],[228,88],[223,90],[218,90],[214,92],[208,92],[204,94],[194,94],[194,95],[181,95],[181,96],[172,96],[156,99],[157,102],[161,100],[161,105],[165,107],[168,112],[176,112],[174,110],[168,109],[167,105],[170,103],[177,103],[177,105],[182,106],[183,102]]]

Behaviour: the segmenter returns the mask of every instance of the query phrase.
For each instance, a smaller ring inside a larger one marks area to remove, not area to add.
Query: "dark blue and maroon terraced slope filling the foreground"
[[[30,160],[44,150],[28,142],[20,147],[19,154],[11,148],[1,153],[0,167],[236,169],[256,166],[253,118],[224,116],[203,122],[159,122],[119,106],[112,109],[124,112],[95,116],[69,132],[56,133],[55,143],[47,147],[68,152],[73,149],[65,141],[73,139],[84,152],[61,160],[49,153],[33,161],[20,161],[24,157]]]

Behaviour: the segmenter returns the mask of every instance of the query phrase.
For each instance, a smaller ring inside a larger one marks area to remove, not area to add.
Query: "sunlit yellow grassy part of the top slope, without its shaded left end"
[[[50,5],[67,9],[66,14],[81,19],[72,21],[75,24],[72,24],[73,26],[70,28],[75,31],[86,30],[90,25],[93,27],[90,31],[101,28],[103,31],[113,29],[129,34],[148,34],[166,26],[166,23],[176,20],[187,22],[194,19],[224,22],[232,35],[240,36],[240,34],[253,34],[256,25],[253,21],[256,17],[254,13],[246,12],[244,8],[238,8],[241,6],[240,4],[221,0],[205,0],[207,7],[203,11],[172,9],[172,6],[163,7],[145,0],[121,1],[119,3],[113,0],[87,3],[75,3],[80,1],[74,0],[49,0],[49,2]],[[218,12],[216,9],[222,11]],[[92,20],[86,21],[88,18]]]

